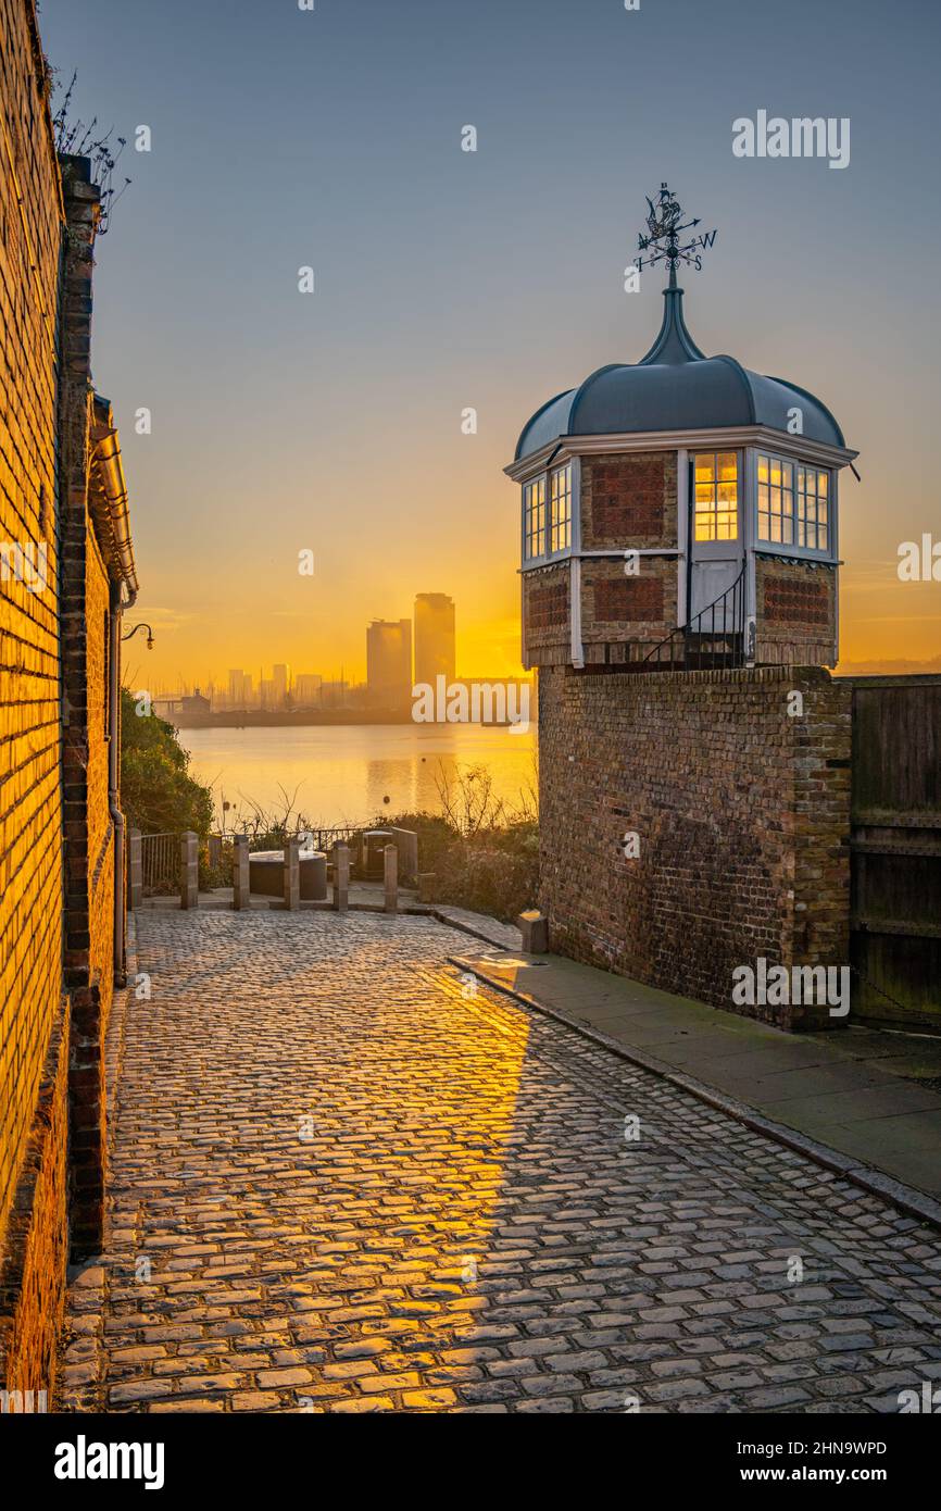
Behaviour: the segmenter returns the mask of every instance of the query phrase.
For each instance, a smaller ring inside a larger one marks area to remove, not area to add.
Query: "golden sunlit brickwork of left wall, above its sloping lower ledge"
[[[32,8],[0,0],[0,544],[47,550],[44,589],[30,591],[12,573],[0,582],[0,1242],[62,987],[54,470],[60,196],[41,68]]]

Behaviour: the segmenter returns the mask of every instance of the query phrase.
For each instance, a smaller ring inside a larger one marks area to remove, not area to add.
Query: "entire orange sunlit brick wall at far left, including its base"
[[[0,0],[0,1378],[47,1389],[65,1111],[56,326],[62,201],[32,0]],[[45,586],[39,586],[45,577]],[[51,1062],[50,1062],[51,1058]]]

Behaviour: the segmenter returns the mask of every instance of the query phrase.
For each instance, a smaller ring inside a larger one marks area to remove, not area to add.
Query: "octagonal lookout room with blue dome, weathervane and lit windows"
[[[677,266],[716,233],[666,186],[648,205],[637,266],[669,264],[656,341],[536,409],[506,468],[524,663],[834,665],[837,477],[856,452],[804,387],[699,349]]]

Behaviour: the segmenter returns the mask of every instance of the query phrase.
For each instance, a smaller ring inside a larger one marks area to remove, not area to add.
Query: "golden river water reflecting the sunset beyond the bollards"
[[[438,784],[459,771],[486,768],[494,793],[517,808],[536,780],[536,733],[511,734],[480,724],[344,724],[255,730],[181,730],[192,771],[211,784],[216,817],[249,817],[254,807],[311,825],[375,819],[376,814],[441,811]],[[296,790],[296,796],[295,796]],[[388,802],[384,799],[388,798]],[[532,801],[532,799],[530,799]]]

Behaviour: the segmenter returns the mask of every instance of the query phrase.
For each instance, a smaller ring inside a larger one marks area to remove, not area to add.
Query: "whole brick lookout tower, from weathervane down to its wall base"
[[[551,947],[731,1006],[749,958],[847,958],[849,694],[825,668],[856,452],[807,390],[696,346],[677,261],[711,240],[683,248],[680,216],[663,186],[651,349],[542,405],[506,471]]]

